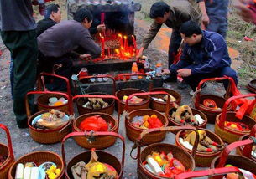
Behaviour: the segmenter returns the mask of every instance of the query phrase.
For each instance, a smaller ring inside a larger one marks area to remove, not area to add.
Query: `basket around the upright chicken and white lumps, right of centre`
[[[171,125],[174,125],[174,126],[182,126],[182,125],[183,125],[182,123],[176,122],[175,119],[173,119],[173,118],[171,117],[171,114],[172,114],[172,111],[173,111],[173,110],[175,110],[175,107],[174,107],[174,106],[170,107],[170,110],[168,111],[167,117],[168,117],[168,120],[169,120],[169,125],[170,125],[170,126],[171,126]],[[196,110],[195,108],[191,108],[191,110],[192,110],[193,115],[200,115],[201,118],[202,118],[203,120],[205,120],[201,125],[194,125],[194,126],[195,126],[196,128],[206,128],[207,121],[208,121],[206,115],[205,115],[203,112],[201,112],[200,110]]]

